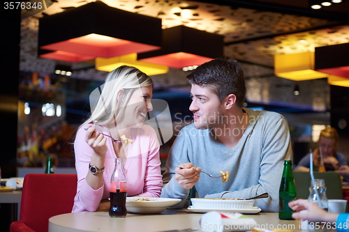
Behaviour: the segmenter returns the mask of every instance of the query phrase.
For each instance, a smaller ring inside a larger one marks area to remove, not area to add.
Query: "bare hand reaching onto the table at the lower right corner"
[[[309,222],[336,222],[338,214],[330,213],[320,208],[317,204],[306,201],[304,199],[298,199],[291,201],[288,206],[292,210],[296,210],[292,214],[295,219],[308,220]],[[301,210],[308,210],[308,212],[299,212]]]

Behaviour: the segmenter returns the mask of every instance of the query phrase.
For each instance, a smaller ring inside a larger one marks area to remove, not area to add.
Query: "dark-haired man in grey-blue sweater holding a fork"
[[[204,63],[187,79],[194,123],[172,145],[161,197],[186,199],[192,187],[207,198],[246,199],[267,192],[269,198],[256,200],[255,206],[278,211],[283,161],[292,154],[285,118],[242,107],[244,73],[234,59]],[[212,176],[230,171],[230,176],[222,183],[200,175],[201,169]]]

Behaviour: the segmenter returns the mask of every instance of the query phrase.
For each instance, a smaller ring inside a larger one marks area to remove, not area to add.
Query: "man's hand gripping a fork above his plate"
[[[194,167],[191,163],[180,164],[174,170],[176,173],[174,178],[178,181],[181,187],[184,187],[186,190],[190,190],[196,183],[198,183],[200,171],[200,167]]]

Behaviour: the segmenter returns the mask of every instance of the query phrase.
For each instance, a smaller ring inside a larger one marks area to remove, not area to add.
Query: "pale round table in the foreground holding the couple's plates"
[[[169,231],[175,229],[198,228],[200,230],[200,218],[202,214],[191,213],[188,210],[166,210],[159,215],[133,215],[125,218],[110,217],[108,212],[74,212],[51,217],[49,220],[49,232],[77,232],[77,231],[103,231],[103,232],[154,232]],[[174,214],[168,214],[174,213]],[[260,212],[253,217],[257,224],[267,226],[265,229],[292,229],[300,231],[299,220],[280,220],[276,212]],[[272,228],[273,227],[273,228]],[[263,228],[262,228],[263,229]]]

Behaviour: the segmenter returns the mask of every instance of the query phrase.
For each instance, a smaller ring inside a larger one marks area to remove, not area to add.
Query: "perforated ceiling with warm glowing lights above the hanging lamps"
[[[55,0],[35,16],[53,15],[91,1]],[[223,35],[225,56],[268,67],[274,66],[275,54],[313,52],[315,47],[349,42],[348,1],[322,11],[309,9],[307,1],[301,0],[102,1],[121,10],[161,18],[163,29],[184,25]]]

